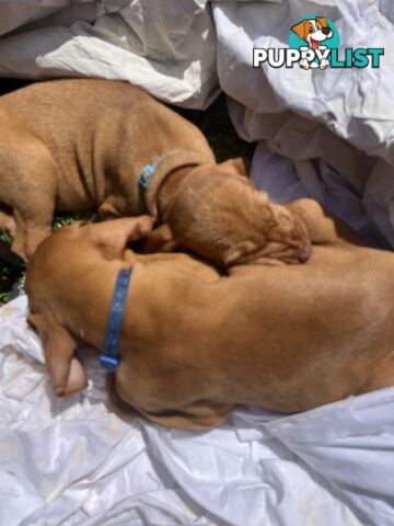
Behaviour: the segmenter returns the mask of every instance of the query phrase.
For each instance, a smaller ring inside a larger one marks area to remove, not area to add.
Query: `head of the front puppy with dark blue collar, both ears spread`
[[[47,238],[35,252],[26,275],[28,322],[42,339],[56,395],[70,395],[86,386],[82,365],[74,357],[77,341],[62,319],[62,299],[79,293],[78,278],[86,260],[90,265],[97,258],[123,260],[127,242],[148,233],[151,225],[147,216],[76,224]]]

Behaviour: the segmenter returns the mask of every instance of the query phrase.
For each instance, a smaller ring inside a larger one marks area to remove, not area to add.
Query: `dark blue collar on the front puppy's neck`
[[[131,268],[121,270],[115,284],[104,340],[104,351],[100,356],[101,365],[109,371],[114,371],[119,365],[120,331],[131,274]]]

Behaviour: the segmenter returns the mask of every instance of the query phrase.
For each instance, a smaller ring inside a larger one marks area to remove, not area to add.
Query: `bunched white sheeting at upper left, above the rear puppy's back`
[[[0,0],[1,14],[0,34],[18,33],[0,39],[0,77],[126,80],[196,108],[219,93],[207,0]]]

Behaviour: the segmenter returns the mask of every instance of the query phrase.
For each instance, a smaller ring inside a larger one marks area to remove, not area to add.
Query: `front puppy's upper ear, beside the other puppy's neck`
[[[121,258],[129,242],[148,236],[152,230],[152,219],[149,216],[125,217],[85,228],[91,229],[103,255],[113,260]]]

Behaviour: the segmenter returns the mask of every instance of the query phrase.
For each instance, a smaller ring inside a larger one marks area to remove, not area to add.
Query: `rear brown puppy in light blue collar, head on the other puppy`
[[[127,83],[40,82],[0,99],[0,227],[24,259],[55,209],[99,208],[104,219],[150,214],[167,222],[167,248],[222,266],[306,260],[302,221],[242,175],[241,160],[217,164],[196,126]]]

